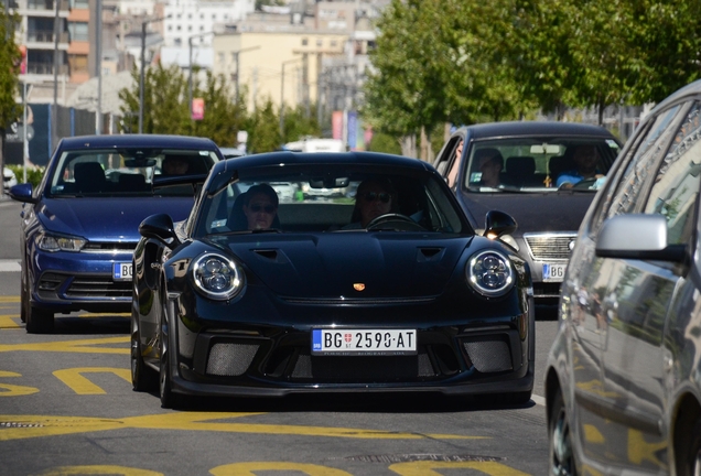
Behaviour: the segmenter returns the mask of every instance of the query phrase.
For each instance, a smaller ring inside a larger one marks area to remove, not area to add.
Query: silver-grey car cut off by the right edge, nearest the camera
[[[580,228],[544,391],[551,475],[701,474],[701,82],[639,125]]]

